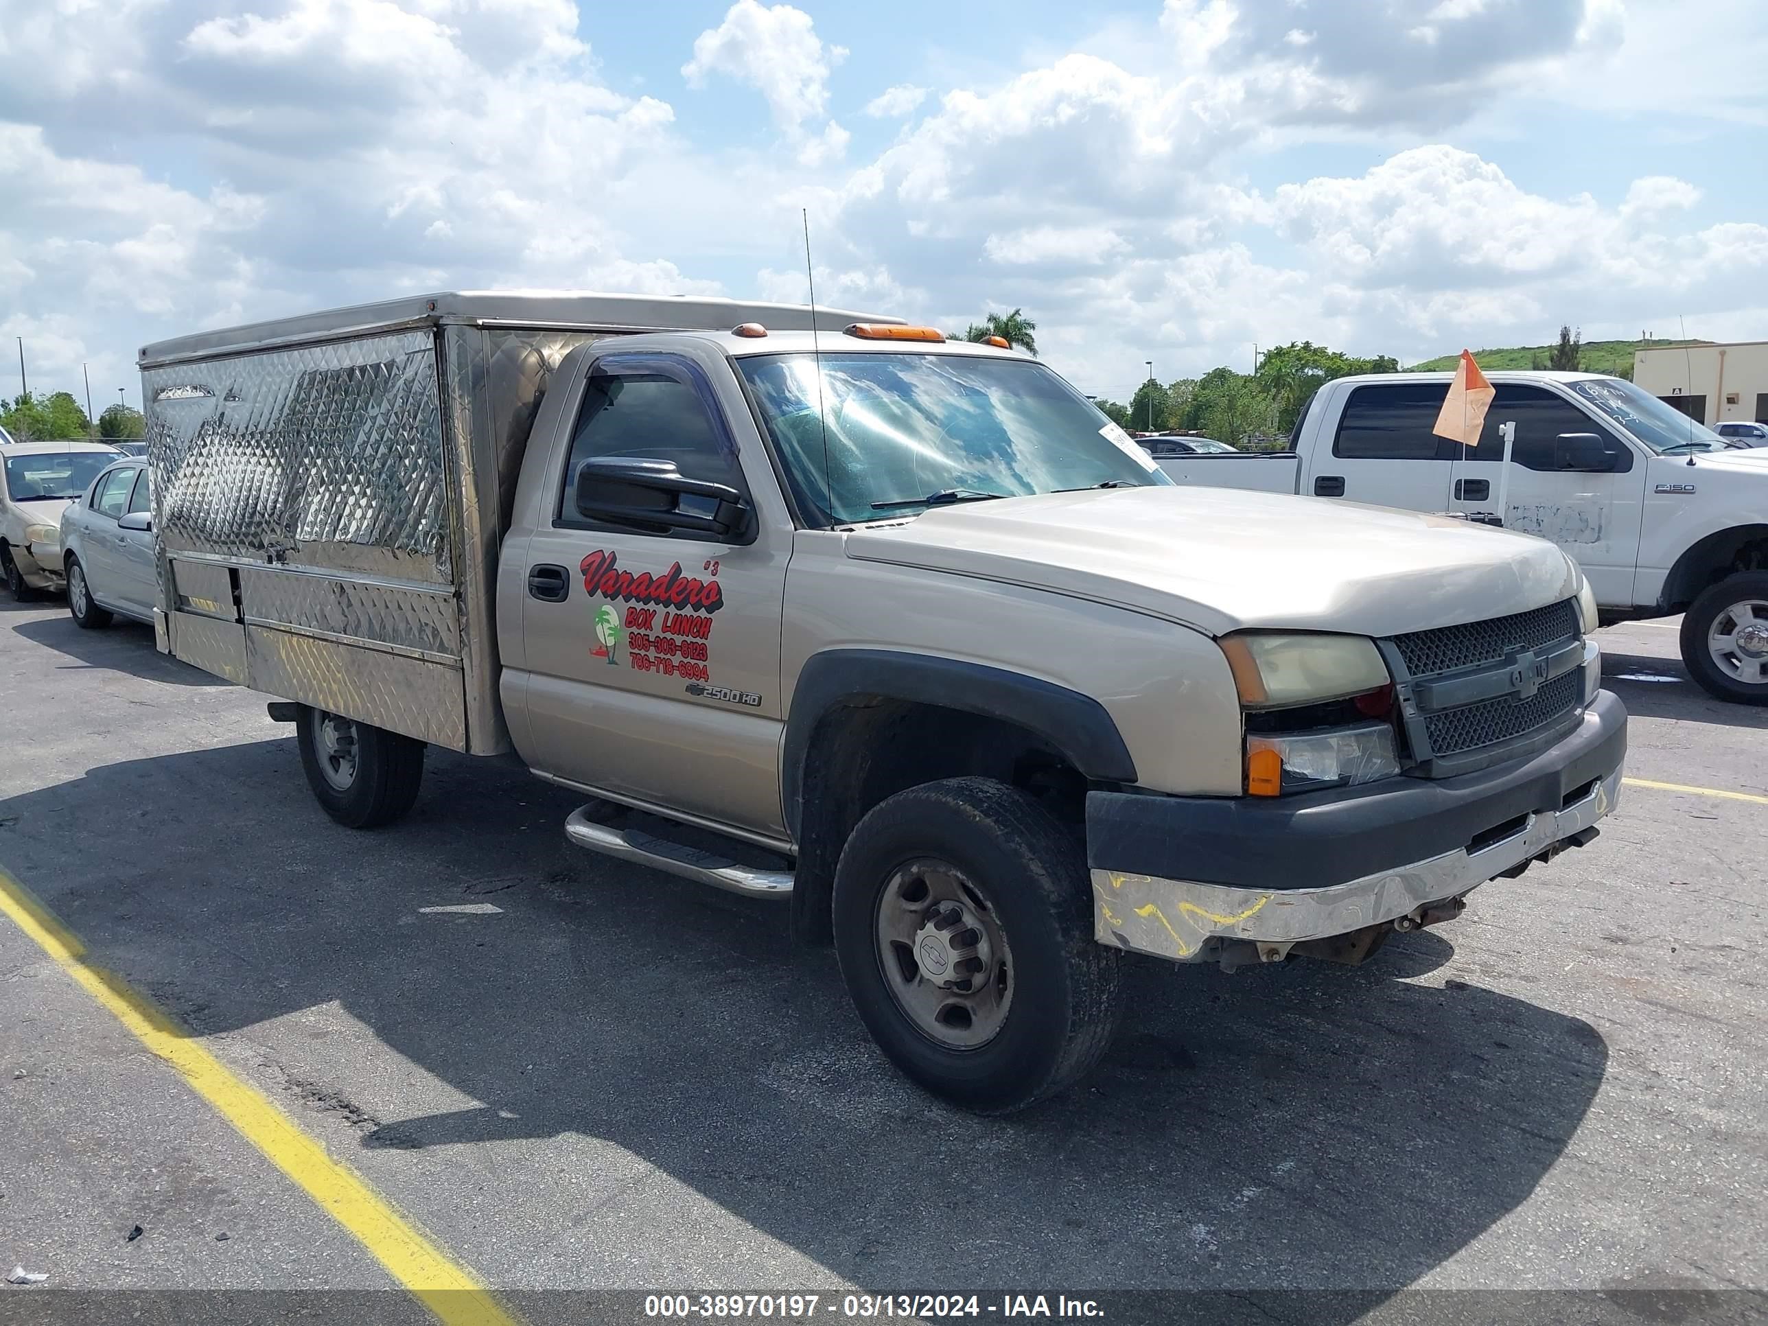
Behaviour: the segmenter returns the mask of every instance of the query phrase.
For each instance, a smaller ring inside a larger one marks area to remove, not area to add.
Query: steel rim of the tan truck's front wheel
[[[898,866],[879,891],[879,969],[903,1017],[935,1045],[978,1050],[1006,1024],[1015,972],[994,905],[949,861]]]

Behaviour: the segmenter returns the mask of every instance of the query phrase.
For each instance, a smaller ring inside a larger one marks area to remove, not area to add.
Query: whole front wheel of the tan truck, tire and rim
[[[834,949],[859,1020],[912,1080],[1006,1114],[1082,1077],[1117,1024],[1080,847],[988,778],[898,792],[834,873]]]

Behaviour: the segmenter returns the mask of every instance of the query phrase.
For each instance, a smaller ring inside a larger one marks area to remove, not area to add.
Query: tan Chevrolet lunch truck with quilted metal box
[[[278,697],[341,824],[513,750],[573,842],[781,900],[976,1110],[1096,1063],[1124,953],[1360,962],[1614,806],[1551,543],[1179,488],[1033,359],[812,325],[430,295],[147,347],[161,647]]]

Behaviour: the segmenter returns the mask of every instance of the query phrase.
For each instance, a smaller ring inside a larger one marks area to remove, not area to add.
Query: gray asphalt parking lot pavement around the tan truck
[[[1625,1294],[1768,1287],[1768,711],[1706,698],[1673,626],[1604,631],[1605,670],[1628,776],[1703,790],[1628,785],[1593,845],[1358,969],[1137,960],[1103,1068],[1010,1119],[896,1077],[773,905],[569,847],[578,797],[431,751],[414,813],[350,833],[262,697],[60,601],[0,603],[0,868],[518,1308],[1582,1289],[1650,1319]],[[424,1315],[5,918],[0,1139],[0,1273],[50,1276],[0,1319],[51,1285]]]

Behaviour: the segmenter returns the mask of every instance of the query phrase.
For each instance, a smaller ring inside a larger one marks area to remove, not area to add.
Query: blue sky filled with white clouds
[[[0,67],[37,387],[421,288],[801,299],[799,209],[826,301],[1022,306],[1100,394],[1768,338],[1756,0],[0,0]]]

